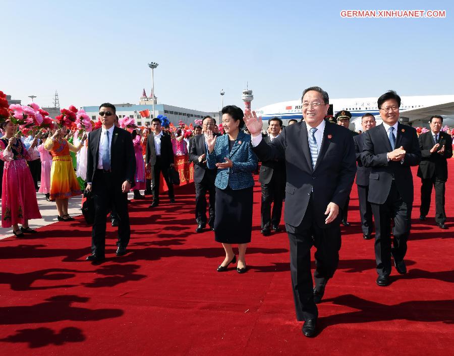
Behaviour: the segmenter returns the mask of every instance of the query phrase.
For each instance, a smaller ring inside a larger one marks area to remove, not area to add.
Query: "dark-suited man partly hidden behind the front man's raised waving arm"
[[[271,118],[268,120],[269,135],[263,141],[270,143],[279,136],[282,129],[282,120]],[[262,161],[259,182],[262,190],[261,228],[263,236],[280,231],[279,223],[282,215],[282,198],[286,179],[286,164],[283,160]],[[273,209],[271,212],[271,203]]]

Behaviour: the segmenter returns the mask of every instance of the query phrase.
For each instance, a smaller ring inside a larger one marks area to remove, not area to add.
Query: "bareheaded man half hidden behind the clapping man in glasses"
[[[372,127],[375,127],[377,122],[372,114],[364,114],[361,118],[361,127],[363,132],[366,132]],[[372,223],[372,207],[367,201],[369,195],[369,175],[371,168],[363,166],[361,161],[361,152],[363,151],[364,135],[356,135],[353,137],[355,141],[356,162],[356,186],[358,187],[358,199],[361,216],[361,229],[363,230],[363,238],[370,240],[372,238],[373,223]]]

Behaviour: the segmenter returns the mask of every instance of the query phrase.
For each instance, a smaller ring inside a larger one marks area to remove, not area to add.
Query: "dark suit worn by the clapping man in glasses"
[[[401,162],[387,160],[392,151],[383,124],[364,132],[362,162],[370,167],[369,195],[375,220],[375,260],[379,276],[391,273],[391,254],[395,262],[404,259],[410,235],[413,205],[413,176],[410,166],[421,160],[416,130],[398,124],[395,147],[403,146],[405,158]],[[391,219],[394,219],[391,249]]]

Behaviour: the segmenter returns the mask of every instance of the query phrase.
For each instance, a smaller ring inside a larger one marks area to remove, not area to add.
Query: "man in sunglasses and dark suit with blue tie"
[[[126,253],[131,235],[128,214],[128,192],[134,182],[136,159],[131,134],[115,125],[115,106],[99,107],[102,127],[88,135],[87,191],[94,196],[95,218],[91,234],[92,254],[87,261],[104,260],[107,211],[116,209],[119,220],[117,256]]]

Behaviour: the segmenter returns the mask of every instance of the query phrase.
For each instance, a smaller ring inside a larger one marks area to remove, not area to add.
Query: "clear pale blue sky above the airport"
[[[396,7],[398,6],[398,7]],[[61,107],[138,104],[158,62],[160,103],[216,111],[330,97],[454,94],[454,6],[422,1],[2,2],[0,90]],[[446,10],[445,19],[345,19],[343,9]]]

